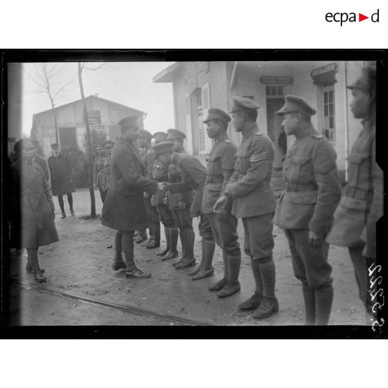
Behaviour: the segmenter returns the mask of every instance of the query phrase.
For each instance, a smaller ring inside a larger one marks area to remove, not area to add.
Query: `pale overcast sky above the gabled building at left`
[[[147,131],[166,131],[174,127],[172,84],[154,83],[152,77],[172,63],[168,62],[120,62],[106,63],[96,70],[83,70],[85,96],[95,95],[118,102],[147,113],[144,126]],[[36,94],[39,89],[33,81],[41,64],[24,63],[23,81],[23,134],[30,136],[34,113],[51,108],[47,93]],[[87,66],[97,67],[93,63]],[[57,106],[81,98],[76,78],[76,63],[58,65],[58,84],[72,80]]]

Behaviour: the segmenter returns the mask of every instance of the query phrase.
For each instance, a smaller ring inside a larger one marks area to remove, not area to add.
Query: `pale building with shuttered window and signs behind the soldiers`
[[[260,106],[258,124],[275,147],[275,175],[282,170],[282,149],[277,143],[282,118],[276,115],[284,95],[299,95],[316,108],[314,127],[337,151],[341,178],[345,179],[346,157],[361,124],[350,111],[350,90],[364,61],[216,61],[179,62],[154,76],[154,82],[171,82],[174,92],[175,127],[187,136],[188,152],[205,156],[212,143],[202,120],[210,107],[229,112],[232,96],[251,97]],[[229,137],[241,140],[229,125]],[[293,138],[288,137],[288,146]]]

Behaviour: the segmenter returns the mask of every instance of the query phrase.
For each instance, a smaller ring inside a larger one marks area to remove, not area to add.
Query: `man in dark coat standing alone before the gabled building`
[[[52,195],[58,195],[62,218],[66,218],[65,206],[63,204],[63,194],[66,194],[70,213],[74,216],[72,193],[75,191],[75,187],[72,166],[70,165],[69,159],[65,155],[60,154],[58,144],[51,144],[51,149],[53,154],[49,157],[48,163],[51,175]]]

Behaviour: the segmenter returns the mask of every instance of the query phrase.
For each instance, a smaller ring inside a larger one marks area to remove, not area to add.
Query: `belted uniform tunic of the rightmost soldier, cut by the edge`
[[[365,120],[348,157],[348,186],[334,213],[328,243],[366,242],[366,257],[376,257],[376,222],[383,214],[383,172],[375,158],[375,123]]]

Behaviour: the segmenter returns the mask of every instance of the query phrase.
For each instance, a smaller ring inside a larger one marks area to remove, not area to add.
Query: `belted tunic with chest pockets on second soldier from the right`
[[[284,156],[286,190],[277,202],[274,223],[282,229],[327,234],[341,197],[336,153],[309,125]]]

